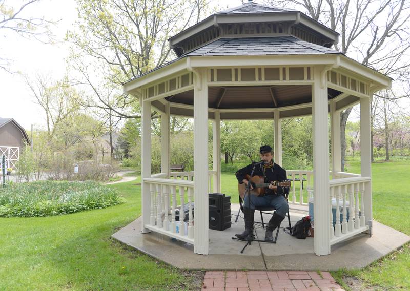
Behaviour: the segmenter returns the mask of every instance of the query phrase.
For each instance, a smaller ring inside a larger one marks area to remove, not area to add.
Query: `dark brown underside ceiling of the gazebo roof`
[[[342,92],[327,89],[327,99]],[[172,103],[194,104],[194,90],[165,98]],[[209,87],[208,107],[215,109],[280,108],[312,102],[310,85]]]

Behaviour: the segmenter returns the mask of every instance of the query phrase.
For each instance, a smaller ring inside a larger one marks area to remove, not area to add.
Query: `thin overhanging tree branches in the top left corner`
[[[0,0],[0,36],[5,37],[6,31],[11,31],[23,37],[34,37],[44,43],[52,42],[53,35],[50,31],[50,25],[54,25],[56,22],[28,13],[28,10],[39,0],[22,1],[19,6],[15,2],[9,2]],[[10,59],[0,56],[0,69],[11,73],[10,63]]]

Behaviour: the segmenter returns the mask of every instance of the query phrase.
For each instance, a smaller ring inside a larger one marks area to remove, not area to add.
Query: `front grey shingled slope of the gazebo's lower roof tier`
[[[341,54],[294,36],[220,38],[183,56]]]

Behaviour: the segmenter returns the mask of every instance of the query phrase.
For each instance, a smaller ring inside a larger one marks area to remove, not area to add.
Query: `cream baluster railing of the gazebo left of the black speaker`
[[[156,174],[158,176],[160,174]],[[194,182],[176,179],[144,178],[149,184],[151,203],[150,221],[144,227],[151,231],[194,243]],[[188,194],[188,201],[185,200]],[[179,195],[180,205],[177,204]],[[184,205],[188,202],[188,223],[184,222]],[[171,204],[171,205],[170,205]],[[179,221],[176,221],[176,210],[179,209]]]

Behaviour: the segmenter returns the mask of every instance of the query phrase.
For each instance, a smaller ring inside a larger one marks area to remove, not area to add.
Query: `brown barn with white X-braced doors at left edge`
[[[7,168],[16,168],[25,144],[30,144],[30,139],[24,128],[13,118],[0,118],[0,156],[6,156]]]

